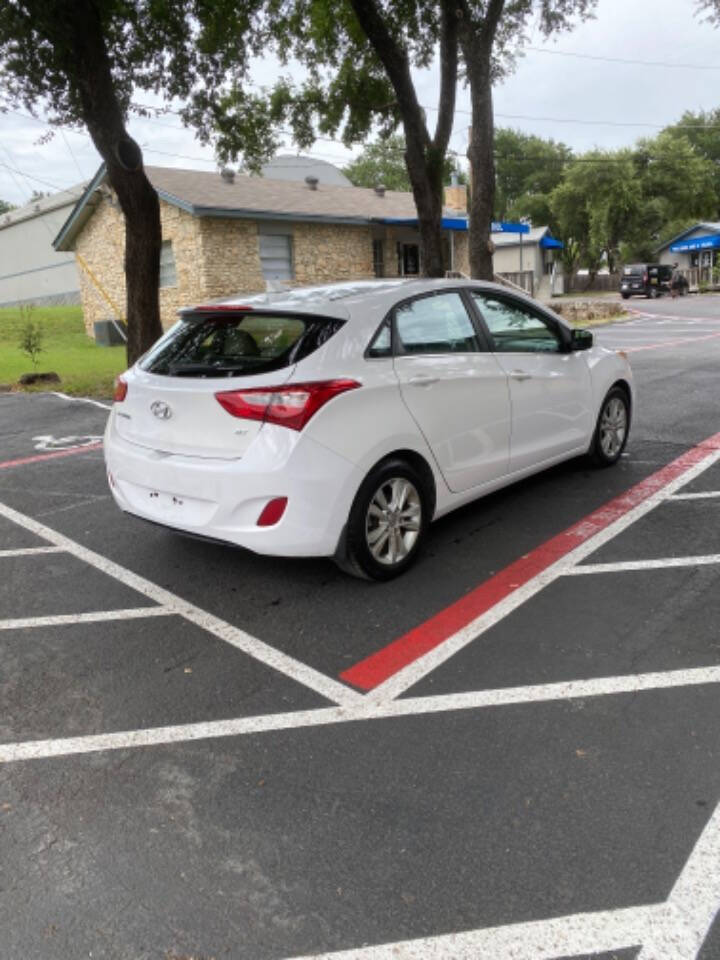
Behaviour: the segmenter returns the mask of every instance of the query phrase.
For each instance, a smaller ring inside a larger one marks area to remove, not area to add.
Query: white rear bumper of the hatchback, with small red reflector
[[[275,556],[332,556],[362,479],[345,458],[270,424],[242,459],[220,460],[130,443],[111,415],[105,462],[115,502],[127,513]],[[275,497],[288,498],[282,518],[258,527]]]

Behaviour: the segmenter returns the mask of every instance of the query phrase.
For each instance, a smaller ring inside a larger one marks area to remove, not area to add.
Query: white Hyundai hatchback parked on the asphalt
[[[562,460],[615,463],[627,359],[490,283],[333,284],[185,310],[117,383],[128,513],[386,580],[430,521]]]

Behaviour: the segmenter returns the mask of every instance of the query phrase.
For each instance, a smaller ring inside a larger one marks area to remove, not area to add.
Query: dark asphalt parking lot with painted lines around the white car
[[[629,306],[619,465],[384,585],[124,517],[102,405],[0,396],[3,960],[720,958],[720,299]]]

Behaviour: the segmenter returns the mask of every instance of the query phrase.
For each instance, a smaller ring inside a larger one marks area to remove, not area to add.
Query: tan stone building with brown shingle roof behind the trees
[[[160,197],[160,310],[289,285],[404,276],[420,270],[411,193],[229,171],[147,167]],[[448,262],[467,272],[465,187],[446,188]],[[88,333],[125,313],[124,223],[101,167],[55,238],[74,251]]]

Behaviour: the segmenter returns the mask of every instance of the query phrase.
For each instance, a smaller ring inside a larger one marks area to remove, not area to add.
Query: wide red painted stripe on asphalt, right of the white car
[[[567,530],[515,560],[510,566],[496,573],[475,590],[426,620],[425,623],[414,627],[408,633],[393,640],[387,647],[343,671],[340,678],[360,690],[373,690],[718,449],[720,449],[720,433],[716,433],[683,453],[619,497],[610,500],[584,519],[568,527]]]

